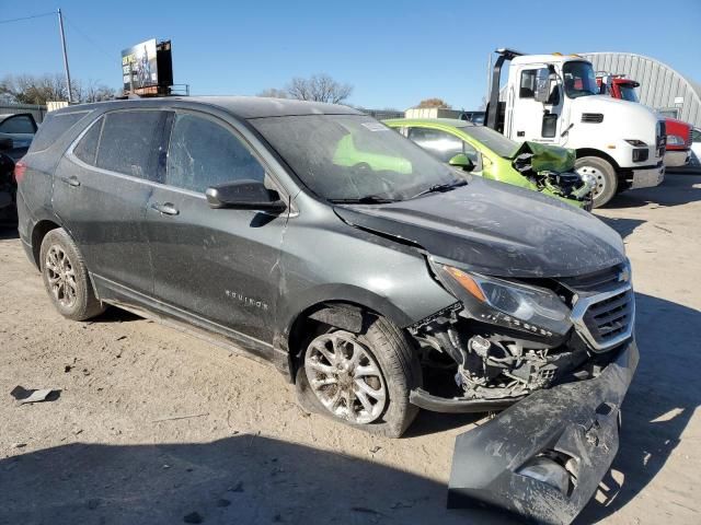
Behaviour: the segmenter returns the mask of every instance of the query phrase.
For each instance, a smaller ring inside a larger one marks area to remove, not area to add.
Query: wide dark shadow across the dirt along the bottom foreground
[[[249,434],[210,443],[73,443],[1,459],[0,472],[2,524],[514,523],[480,510],[448,511],[446,487],[434,480]]]

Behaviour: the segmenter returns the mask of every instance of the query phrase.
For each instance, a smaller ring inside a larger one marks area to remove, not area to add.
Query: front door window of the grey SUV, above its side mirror
[[[234,180],[265,182],[265,168],[227,128],[198,116],[179,114],[168,151],[165,183],[204,192]]]

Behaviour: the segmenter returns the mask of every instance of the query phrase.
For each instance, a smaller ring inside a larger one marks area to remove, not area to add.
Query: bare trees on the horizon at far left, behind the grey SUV
[[[107,101],[114,98],[116,94],[112,88],[94,81],[83,84],[74,80],[71,82],[71,91],[76,102]],[[44,105],[48,101],[68,100],[68,90],[61,74],[7,75],[0,80],[0,96],[18,104]]]

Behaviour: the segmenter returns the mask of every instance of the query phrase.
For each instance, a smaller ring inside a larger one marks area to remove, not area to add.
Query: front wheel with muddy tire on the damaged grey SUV
[[[399,438],[418,413],[418,407],[409,401],[410,392],[422,384],[418,358],[406,336],[388,319],[367,316],[364,325],[359,334],[330,327],[307,341],[297,372],[300,404],[309,411],[374,434]],[[350,359],[326,359],[320,348],[325,348],[330,357],[346,352]],[[356,355],[357,363],[344,369]],[[377,374],[369,372],[374,365]],[[318,386],[330,377],[336,382]],[[332,407],[340,392],[341,399]],[[383,392],[383,399],[372,397],[375,394],[369,392]],[[348,400],[353,410],[348,410]],[[368,402],[371,410],[366,408]]]

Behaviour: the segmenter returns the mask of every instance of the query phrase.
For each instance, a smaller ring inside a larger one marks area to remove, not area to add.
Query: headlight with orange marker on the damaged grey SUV
[[[475,318],[540,336],[565,335],[570,308],[551,290],[436,265],[441,282]]]

